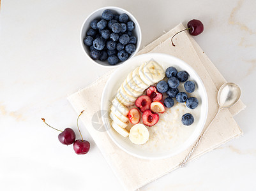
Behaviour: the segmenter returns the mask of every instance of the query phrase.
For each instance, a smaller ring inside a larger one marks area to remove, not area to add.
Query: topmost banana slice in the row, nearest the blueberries
[[[160,64],[154,60],[150,60],[143,67],[143,72],[148,80],[153,81],[154,83],[162,80],[165,77],[165,71]]]

